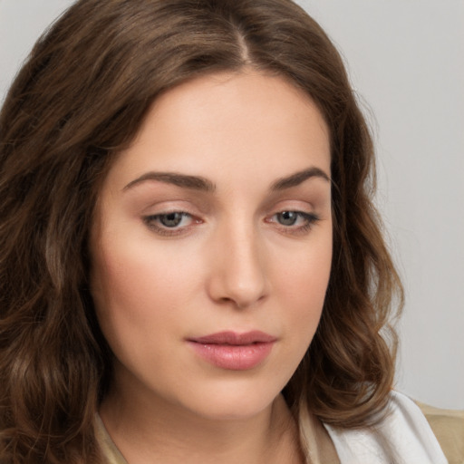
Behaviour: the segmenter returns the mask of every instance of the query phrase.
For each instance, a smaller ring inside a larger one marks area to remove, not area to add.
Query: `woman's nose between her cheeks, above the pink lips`
[[[238,227],[218,234],[210,247],[208,293],[220,304],[237,308],[253,306],[266,298],[269,282],[265,253],[257,234]]]

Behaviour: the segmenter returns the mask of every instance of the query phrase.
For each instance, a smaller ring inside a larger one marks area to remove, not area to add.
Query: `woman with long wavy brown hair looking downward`
[[[77,2],[0,137],[2,462],[446,462],[391,392],[372,141],[301,8]]]

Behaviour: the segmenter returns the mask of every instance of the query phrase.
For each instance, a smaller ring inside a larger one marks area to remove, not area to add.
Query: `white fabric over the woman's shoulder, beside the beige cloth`
[[[391,391],[388,414],[375,427],[326,429],[342,464],[448,463],[420,408],[397,391]]]

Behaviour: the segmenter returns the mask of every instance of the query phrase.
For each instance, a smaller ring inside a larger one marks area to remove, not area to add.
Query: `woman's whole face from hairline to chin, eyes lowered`
[[[91,249],[116,397],[213,419],[266,410],[311,343],[329,279],[320,112],[256,73],[166,92],[105,179]]]

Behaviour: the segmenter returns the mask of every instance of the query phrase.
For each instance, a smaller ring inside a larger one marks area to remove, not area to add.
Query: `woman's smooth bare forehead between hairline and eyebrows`
[[[162,94],[111,177],[130,181],[156,169],[216,182],[250,172],[280,178],[311,166],[330,175],[329,145],[321,112],[284,78],[218,73]]]

